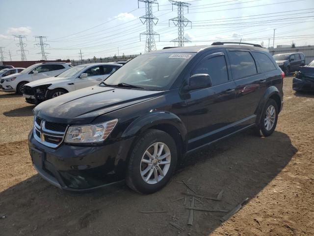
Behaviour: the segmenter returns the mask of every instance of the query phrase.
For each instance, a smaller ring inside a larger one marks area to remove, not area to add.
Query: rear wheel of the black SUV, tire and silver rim
[[[263,137],[271,135],[276,128],[277,119],[278,106],[276,101],[270,98],[262,111],[261,120],[257,127],[258,134]]]

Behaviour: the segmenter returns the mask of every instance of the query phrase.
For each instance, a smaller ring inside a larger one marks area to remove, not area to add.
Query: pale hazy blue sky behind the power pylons
[[[177,6],[157,0],[153,14],[156,47],[175,46],[178,28],[169,19],[177,17]],[[215,41],[242,41],[264,47],[314,45],[314,0],[184,0],[184,28],[191,42],[184,46],[209,45]],[[145,3],[137,0],[0,0],[0,47],[4,60],[21,60],[12,35],[25,35],[27,60],[41,59],[39,41],[47,36],[47,58],[105,58],[145,52],[146,31],[139,17]]]

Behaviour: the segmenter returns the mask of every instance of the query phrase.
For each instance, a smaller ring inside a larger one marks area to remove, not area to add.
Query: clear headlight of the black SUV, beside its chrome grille
[[[104,141],[116,126],[118,119],[102,124],[70,126],[66,133],[66,143],[96,143]]]

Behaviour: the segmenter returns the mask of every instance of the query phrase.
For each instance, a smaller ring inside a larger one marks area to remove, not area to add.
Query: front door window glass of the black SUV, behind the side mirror
[[[229,81],[225,56],[203,59],[193,70],[192,75],[209,74],[212,86],[225,84]]]

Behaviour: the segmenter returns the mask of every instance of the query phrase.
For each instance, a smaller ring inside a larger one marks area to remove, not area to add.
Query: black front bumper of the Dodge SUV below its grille
[[[29,153],[38,174],[54,186],[77,192],[124,184],[131,143],[128,139],[105,146],[63,143],[49,148],[37,142],[32,131],[28,135]]]

